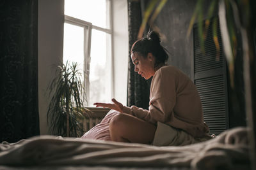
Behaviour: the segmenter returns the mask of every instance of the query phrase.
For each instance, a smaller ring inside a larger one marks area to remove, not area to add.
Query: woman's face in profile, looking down
[[[131,55],[131,58],[132,58],[132,63],[134,64],[135,72],[138,72],[138,74],[140,74],[146,80],[154,76],[155,59],[152,53],[148,53],[147,57],[144,58],[138,52],[133,52]]]

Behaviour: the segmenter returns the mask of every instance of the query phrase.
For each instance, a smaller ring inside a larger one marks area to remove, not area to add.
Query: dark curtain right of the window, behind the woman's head
[[[128,17],[129,17],[129,50],[132,44],[137,40],[140,29],[141,1],[128,0]],[[134,71],[134,65],[129,52],[128,66],[128,86],[127,86],[127,106],[138,106],[148,109],[149,103],[150,80],[145,80]]]

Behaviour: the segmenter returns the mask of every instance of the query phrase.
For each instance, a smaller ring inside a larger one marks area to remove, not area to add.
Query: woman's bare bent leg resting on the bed
[[[154,139],[156,125],[125,113],[119,113],[109,124],[112,141],[150,144]]]

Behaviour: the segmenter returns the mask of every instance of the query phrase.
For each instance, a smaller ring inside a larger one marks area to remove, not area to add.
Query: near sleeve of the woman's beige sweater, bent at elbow
[[[175,98],[175,79],[159,70],[152,79],[148,110],[136,106],[125,106],[123,112],[152,124],[156,124],[156,122],[164,123],[170,121],[175,106]]]

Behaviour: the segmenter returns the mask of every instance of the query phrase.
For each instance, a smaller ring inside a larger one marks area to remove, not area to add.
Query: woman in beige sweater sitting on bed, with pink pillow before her
[[[106,133],[111,141],[160,143],[158,145],[170,145],[161,141],[165,136],[172,138],[170,141],[176,141],[173,145],[209,139],[209,128],[204,123],[196,87],[186,74],[165,64],[168,54],[161,46],[159,34],[148,32],[147,38],[136,41],[131,48],[131,59],[134,71],[143,78],[148,80],[153,76],[148,110],[123,106],[115,99],[112,99],[113,103],[95,103],[96,107],[110,108],[112,111],[101,125],[82,138],[90,138],[93,133]],[[104,128],[101,129],[101,126]]]

